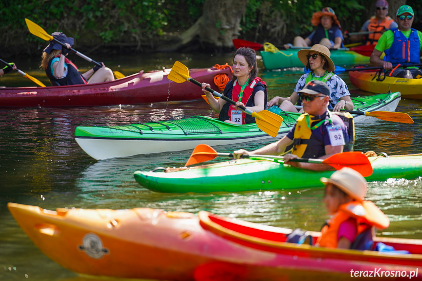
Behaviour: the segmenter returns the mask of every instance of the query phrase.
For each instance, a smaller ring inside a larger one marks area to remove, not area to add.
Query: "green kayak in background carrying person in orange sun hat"
[[[261,51],[262,62],[264,67],[268,70],[288,68],[288,67],[303,67],[303,64],[297,57],[299,49],[278,50],[277,52]],[[362,56],[359,53],[351,50],[331,50],[330,58],[334,65],[355,65],[369,63],[369,57]]]

